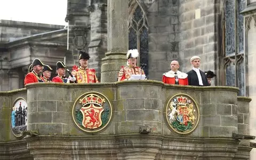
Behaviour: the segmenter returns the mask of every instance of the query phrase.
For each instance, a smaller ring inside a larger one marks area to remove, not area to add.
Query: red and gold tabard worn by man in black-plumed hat
[[[98,83],[99,82],[96,77],[95,69],[93,68],[84,69],[83,67],[79,67],[77,70],[73,70],[71,74],[76,77],[77,83]]]

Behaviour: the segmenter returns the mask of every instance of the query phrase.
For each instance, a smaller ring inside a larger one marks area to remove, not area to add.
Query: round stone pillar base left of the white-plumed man
[[[126,52],[108,52],[101,60],[101,81],[116,82],[121,66],[126,66]]]

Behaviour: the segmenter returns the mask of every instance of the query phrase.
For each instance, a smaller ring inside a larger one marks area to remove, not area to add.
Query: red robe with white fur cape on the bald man
[[[163,74],[162,81],[166,84],[175,84],[175,72],[170,70]],[[188,75],[186,73],[182,73],[181,71],[177,71],[177,76],[179,78],[179,85],[188,85]]]

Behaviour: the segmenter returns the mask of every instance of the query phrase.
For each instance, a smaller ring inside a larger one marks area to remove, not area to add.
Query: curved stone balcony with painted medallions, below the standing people
[[[249,141],[233,139],[233,133],[249,135],[251,99],[237,92],[159,81],[34,83],[0,92],[0,159],[248,159]],[[86,106],[80,99],[87,93],[108,103],[103,127],[79,125],[75,110]],[[168,116],[178,96],[194,103],[194,124],[187,131],[173,129]],[[18,98],[27,101],[27,130],[38,135],[13,134],[11,108]]]

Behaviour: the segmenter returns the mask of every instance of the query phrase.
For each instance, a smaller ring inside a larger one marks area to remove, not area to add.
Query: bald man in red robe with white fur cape
[[[171,70],[163,74],[162,81],[166,84],[188,85],[188,75],[179,71],[178,61],[171,62]]]

